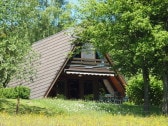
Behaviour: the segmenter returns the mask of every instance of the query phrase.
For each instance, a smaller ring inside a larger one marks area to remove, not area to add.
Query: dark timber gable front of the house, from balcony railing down
[[[107,90],[106,93],[111,93],[112,91],[110,92],[110,90],[113,90],[113,92],[117,92],[120,96],[125,96],[124,84],[122,84],[123,82],[120,81],[118,76],[115,76],[115,71],[110,70],[110,65],[112,64],[107,57],[103,61],[102,59],[81,57],[78,55],[78,57],[74,56],[65,61],[59,72],[59,77],[57,76],[53,81],[45,95],[46,97],[55,97],[61,94],[66,98],[82,99],[85,95],[91,93],[94,99],[98,99],[100,95],[99,90],[101,90],[100,88],[105,88],[105,85],[109,85],[105,89]],[[114,79],[115,81],[113,81]],[[87,91],[87,83],[90,84],[92,92]],[[57,89],[59,87],[61,89]]]

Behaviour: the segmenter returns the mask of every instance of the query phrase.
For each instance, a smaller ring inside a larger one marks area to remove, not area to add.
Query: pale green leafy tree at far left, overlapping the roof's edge
[[[6,87],[17,65],[29,52],[28,25],[37,2],[19,0],[0,2],[0,83]]]

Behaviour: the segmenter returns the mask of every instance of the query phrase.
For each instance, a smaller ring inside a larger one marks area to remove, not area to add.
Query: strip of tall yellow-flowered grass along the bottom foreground
[[[0,126],[167,126],[164,116],[139,117],[133,115],[73,114],[45,116],[42,114],[0,114]]]

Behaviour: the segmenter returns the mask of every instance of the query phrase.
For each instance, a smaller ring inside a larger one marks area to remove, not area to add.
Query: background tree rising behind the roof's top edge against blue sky
[[[30,41],[53,35],[71,26],[71,6],[65,0],[39,0],[37,15],[29,28]]]

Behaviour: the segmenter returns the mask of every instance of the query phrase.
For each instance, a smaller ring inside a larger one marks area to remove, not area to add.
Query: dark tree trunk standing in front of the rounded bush
[[[142,69],[143,81],[144,81],[144,114],[149,114],[149,70],[146,66]]]

